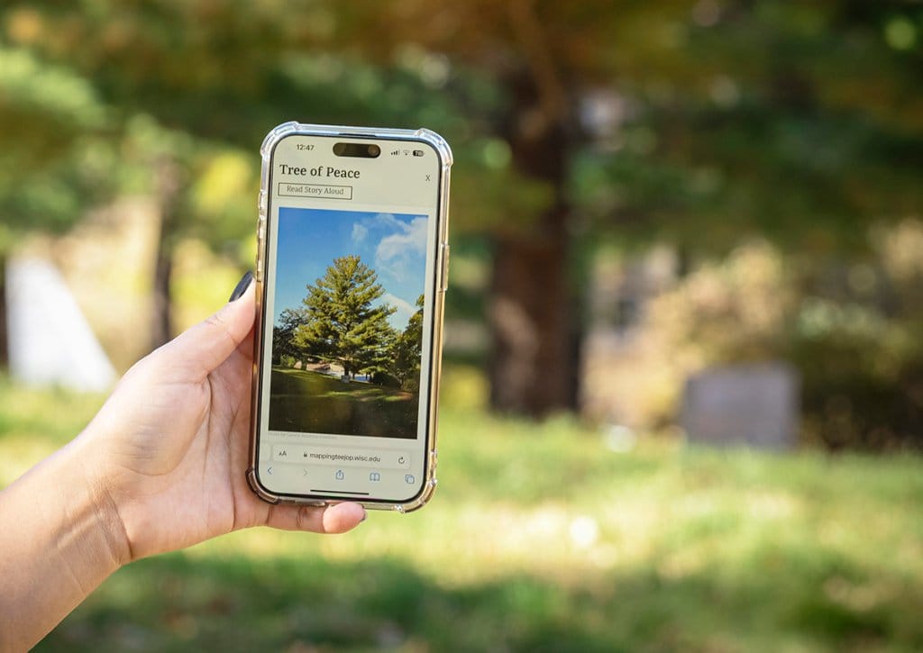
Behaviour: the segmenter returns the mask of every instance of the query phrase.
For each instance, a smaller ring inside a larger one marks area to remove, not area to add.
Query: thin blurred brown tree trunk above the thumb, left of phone
[[[158,206],[161,214],[161,230],[157,239],[157,255],[154,260],[154,282],[151,289],[150,349],[155,350],[173,338],[173,302],[170,284],[173,280],[174,246],[176,223],[179,219],[181,193],[181,171],[179,165],[168,157],[157,163]]]

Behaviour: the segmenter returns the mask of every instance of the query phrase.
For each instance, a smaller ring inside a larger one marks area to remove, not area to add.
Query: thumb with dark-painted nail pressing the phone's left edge
[[[167,346],[171,356],[202,378],[226,361],[253,327],[255,286],[253,274],[247,272],[234,289],[230,302],[174,338]]]

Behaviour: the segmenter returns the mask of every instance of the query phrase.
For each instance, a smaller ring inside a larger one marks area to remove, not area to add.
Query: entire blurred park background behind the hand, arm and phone
[[[40,649],[923,648],[921,72],[896,0],[6,3],[0,484],[226,301],[272,126],[456,159],[433,503]]]

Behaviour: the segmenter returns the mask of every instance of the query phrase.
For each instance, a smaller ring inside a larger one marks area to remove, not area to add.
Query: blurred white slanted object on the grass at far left
[[[6,266],[10,374],[36,386],[102,391],[115,370],[54,265],[42,258]]]

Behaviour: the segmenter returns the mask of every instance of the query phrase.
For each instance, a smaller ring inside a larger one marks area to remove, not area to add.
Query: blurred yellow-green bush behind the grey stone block
[[[692,372],[786,361],[800,377],[802,444],[923,446],[923,221],[869,242],[858,261],[743,243],[660,292],[642,318],[651,353],[635,362],[634,425],[675,423]]]

